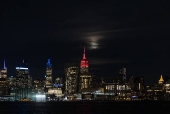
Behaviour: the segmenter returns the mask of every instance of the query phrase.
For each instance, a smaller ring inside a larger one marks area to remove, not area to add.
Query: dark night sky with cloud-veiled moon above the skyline
[[[115,0],[8,1],[1,4],[0,65],[8,76],[25,58],[33,78],[44,78],[47,59],[54,77],[66,63],[80,63],[83,47],[97,78],[127,76],[146,83],[170,76],[170,12],[165,2]]]

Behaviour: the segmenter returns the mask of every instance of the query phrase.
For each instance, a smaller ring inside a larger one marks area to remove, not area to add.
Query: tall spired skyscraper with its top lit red
[[[83,53],[83,59],[80,63],[80,91],[83,88],[89,88],[91,87],[92,83],[92,76],[89,73],[89,64],[88,60],[86,59],[86,53],[85,53],[85,47],[84,47],[84,53]]]

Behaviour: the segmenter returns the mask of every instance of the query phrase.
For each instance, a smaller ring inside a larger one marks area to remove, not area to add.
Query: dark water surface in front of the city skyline
[[[170,114],[163,101],[0,102],[0,114]]]

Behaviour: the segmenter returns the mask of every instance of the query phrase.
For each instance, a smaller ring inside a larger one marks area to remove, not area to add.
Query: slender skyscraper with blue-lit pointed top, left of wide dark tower
[[[46,65],[46,75],[45,75],[45,87],[46,88],[52,88],[52,64],[50,63],[50,59],[48,59],[47,65]]]

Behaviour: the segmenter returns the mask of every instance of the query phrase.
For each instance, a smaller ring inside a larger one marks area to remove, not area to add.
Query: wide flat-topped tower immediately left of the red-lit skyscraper
[[[78,92],[78,76],[79,67],[75,64],[67,65],[65,69],[66,77],[65,91],[67,95],[75,94]]]

